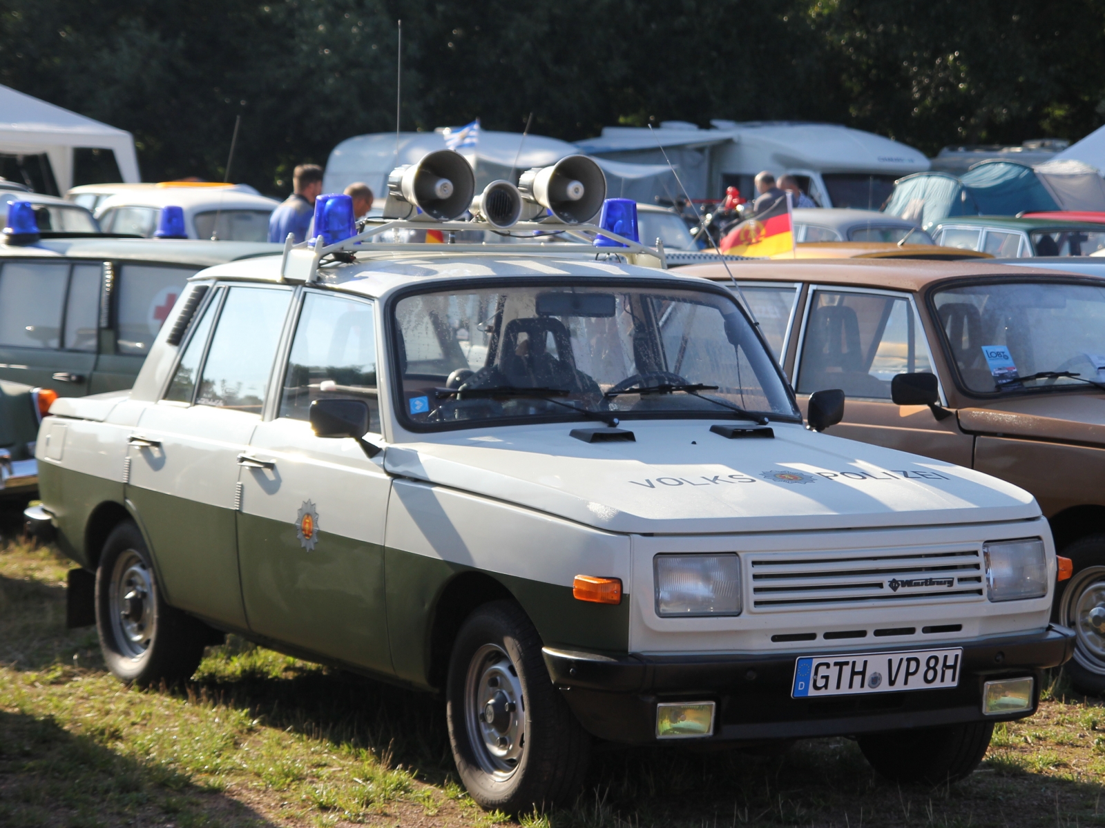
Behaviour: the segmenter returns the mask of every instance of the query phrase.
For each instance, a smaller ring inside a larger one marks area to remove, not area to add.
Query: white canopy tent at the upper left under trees
[[[73,187],[76,149],[110,150],[123,181],[141,180],[130,132],[0,86],[0,155],[44,155],[64,194]]]

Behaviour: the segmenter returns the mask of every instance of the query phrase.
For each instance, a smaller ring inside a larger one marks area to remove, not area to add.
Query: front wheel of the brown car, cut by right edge
[[[1080,693],[1105,696],[1105,534],[1082,538],[1062,554],[1074,562],[1055,598],[1055,620],[1075,631],[1066,675]]]

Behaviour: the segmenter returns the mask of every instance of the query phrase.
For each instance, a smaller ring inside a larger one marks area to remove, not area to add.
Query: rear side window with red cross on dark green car
[[[149,353],[194,267],[123,265],[118,276],[116,348],[119,353]]]

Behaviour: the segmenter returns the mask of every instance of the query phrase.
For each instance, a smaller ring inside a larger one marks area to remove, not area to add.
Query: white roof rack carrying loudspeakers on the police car
[[[284,256],[281,259],[281,279],[284,282],[315,282],[318,278],[318,268],[323,259],[332,256],[335,262],[351,262],[358,253],[383,253],[386,251],[403,253],[496,253],[498,255],[508,253],[612,253],[623,256],[629,264],[644,267],[667,268],[667,256],[664,253],[664,245],[657,238],[655,247],[648,247],[631,238],[625,238],[609,230],[603,230],[596,224],[565,224],[554,221],[527,221],[517,222],[511,225],[509,230],[492,224],[491,222],[473,221],[409,221],[409,220],[380,220],[368,219],[361,224],[361,232],[349,238],[343,238],[334,244],[324,244],[323,236],[307,242],[294,244],[288,234],[284,243]],[[375,242],[375,236],[393,230],[438,230],[445,236],[445,243],[407,243],[407,242]],[[505,245],[505,250],[496,250],[499,245],[488,245],[486,243],[452,243],[449,238],[459,231],[490,231],[499,235],[513,235],[514,231],[544,232],[556,235],[568,235],[579,240],[578,242],[558,242],[555,245],[544,243],[525,243]],[[622,247],[594,247],[592,242],[598,236],[606,236],[622,244]],[[369,244],[366,245],[365,243]],[[344,255],[343,255],[344,254]]]

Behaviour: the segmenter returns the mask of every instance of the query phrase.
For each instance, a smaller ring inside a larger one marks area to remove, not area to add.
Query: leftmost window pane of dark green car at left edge
[[[0,270],[0,346],[59,348],[67,264],[12,262]]]

